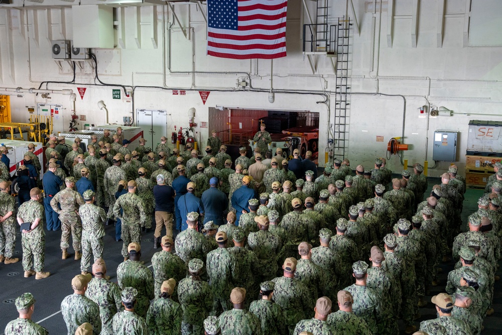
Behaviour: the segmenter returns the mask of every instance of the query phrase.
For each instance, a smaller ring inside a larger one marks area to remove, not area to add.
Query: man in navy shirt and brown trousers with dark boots
[[[157,176],[154,186],[155,197],[155,233],[154,249],[159,249],[162,227],[166,226],[166,235],[173,237],[174,189],[166,184],[163,174]]]

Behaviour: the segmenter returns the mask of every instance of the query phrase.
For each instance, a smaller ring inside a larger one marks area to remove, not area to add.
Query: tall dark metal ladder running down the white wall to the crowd
[[[350,86],[348,85],[348,55],[349,55],[349,37],[352,23],[350,18],[338,18],[336,25],[330,26],[335,34],[330,34],[334,38],[330,40],[329,47],[336,56],[336,95],[335,95],[335,110],[334,110],[334,143],[333,157],[344,158],[345,148],[347,147],[345,136],[348,129],[347,110],[349,101],[347,99]]]

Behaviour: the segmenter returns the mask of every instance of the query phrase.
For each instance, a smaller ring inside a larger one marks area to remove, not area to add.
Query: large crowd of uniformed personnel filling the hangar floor
[[[460,233],[465,179],[455,165],[424,200],[420,164],[393,179],[384,158],[371,169],[358,165],[355,175],[347,159],[335,159],[317,177],[310,152],[302,160],[294,150],[287,160],[277,149],[263,159],[271,141],[264,126],[253,157],[243,147],[235,162],[216,132],[202,159],[191,143],[171,155],[166,140],[152,150],[141,139],[130,152],[128,140],[105,133],[99,141],[93,136],[82,155],[77,141],[65,153],[64,139],[57,140],[59,150],[51,139],[44,192],[29,188],[17,215],[10,181],[0,182],[5,264],[19,261],[13,258],[17,218],[28,224],[22,227],[25,277],[50,275],[43,271],[44,205],[47,229],[62,230],[62,259],[72,236],[81,274],[61,303],[68,335],[395,335],[398,319],[411,334],[419,307],[427,305],[426,289],[440,284],[439,264],[450,255],[458,263],[445,293],[432,298],[438,318],[422,321],[415,333],[479,334],[493,313],[502,235],[499,163],[468,218],[469,231]],[[154,249],[162,250],[152,257],[152,272],[140,242],[154,217]],[[123,240],[117,284],[103,260],[104,226],[113,223],[116,240]],[[31,321],[34,303],[31,293],[16,300],[20,317],[6,335],[47,333]]]

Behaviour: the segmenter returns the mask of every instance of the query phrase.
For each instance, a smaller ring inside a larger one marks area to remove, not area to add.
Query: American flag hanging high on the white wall
[[[207,54],[285,57],[287,4],[288,0],[207,0]]]

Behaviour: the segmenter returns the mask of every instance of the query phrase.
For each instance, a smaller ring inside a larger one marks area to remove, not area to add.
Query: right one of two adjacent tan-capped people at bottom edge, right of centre
[[[338,334],[344,335],[371,335],[371,329],[366,321],[357,316],[352,305],[354,300],[348,291],[340,290],[337,295],[338,308],[334,313],[328,315],[327,322]]]

